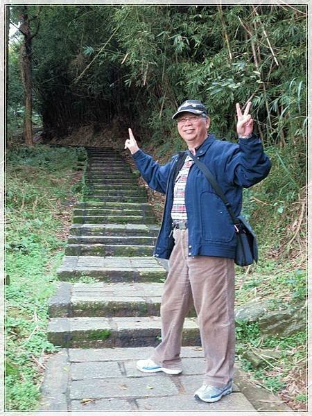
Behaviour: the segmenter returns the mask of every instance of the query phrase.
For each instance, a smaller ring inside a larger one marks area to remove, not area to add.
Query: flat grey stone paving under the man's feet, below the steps
[[[200,347],[182,347],[184,371],[177,376],[137,370],[138,354],[149,356],[151,352],[150,347],[62,349],[49,361],[50,379],[44,383],[42,406],[45,410],[85,411],[254,410],[237,385],[232,395],[215,404],[194,399],[205,368]]]

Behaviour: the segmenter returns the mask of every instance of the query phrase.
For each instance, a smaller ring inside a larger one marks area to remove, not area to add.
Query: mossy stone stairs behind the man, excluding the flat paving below
[[[166,278],[153,257],[159,225],[121,155],[106,148],[88,148],[87,154],[87,191],[73,209],[58,269],[64,282],[49,303],[48,339],[70,348],[155,346]],[[98,282],[76,283],[81,277]],[[184,327],[183,344],[200,345],[194,318]]]

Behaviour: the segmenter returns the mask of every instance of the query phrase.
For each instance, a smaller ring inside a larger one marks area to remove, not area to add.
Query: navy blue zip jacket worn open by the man
[[[164,217],[155,245],[154,256],[168,259],[173,249],[171,208],[175,166],[185,157],[180,152],[164,166],[139,149],[132,155],[148,186],[166,194]],[[241,213],[243,187],[260,182],[270,171],[271,163],[263,153],[261,140],[252,135],[239,144],[217,140],[209,134],[196,149],[196,156],[206,164],[225,193],[234,214]],[[189,229],[189,256],[216,256],[234,259],[236,234],[231,217],[207,178],[193,164],[185,188],[185,205]]]

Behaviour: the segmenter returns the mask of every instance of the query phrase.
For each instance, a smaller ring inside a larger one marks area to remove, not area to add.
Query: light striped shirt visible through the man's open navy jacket
[[[177,174],[175,179],[173,206],[171,209],[171,218],[173,221],[187,220],[187,207],[185,207],[185,187],[187,185],[189,169],[193,163],[193,159],[187,156],[180,172]]]

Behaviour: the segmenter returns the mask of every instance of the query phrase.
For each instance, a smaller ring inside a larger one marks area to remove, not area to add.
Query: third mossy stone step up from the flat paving
[[[98,281],[156,281],[166,279],[166,269],[155,257],[64,256],[58,279],[75,281],[92,277]]]

